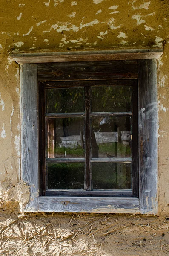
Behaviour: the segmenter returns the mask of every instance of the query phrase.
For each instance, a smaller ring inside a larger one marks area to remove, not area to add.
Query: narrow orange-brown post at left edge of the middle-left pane
[[[48,157],[54,158],[54,120],[48,120]]]

